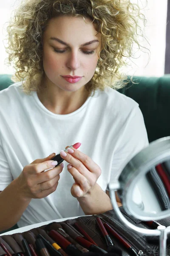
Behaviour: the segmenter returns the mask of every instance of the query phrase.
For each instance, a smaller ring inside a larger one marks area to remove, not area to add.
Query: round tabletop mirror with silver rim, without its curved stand
[[[170,137],[150,143],[127,163],[117,192],[135,218],[147,221],[170,215]]]

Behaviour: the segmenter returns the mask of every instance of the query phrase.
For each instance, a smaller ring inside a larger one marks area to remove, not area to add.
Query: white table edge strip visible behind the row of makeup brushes
[[[60,219],[57,219],[57,220],[40,222],[40,223],[28,225],[28,226],[26,226],[26,227],[20,227],[20,228],[17,228],[17,229],[15,229],[15,230],[8,231],[8,232],[6,232],[6,233],[2,233],[2,234],[0,234],[0,236],[3,236],[3,235],[11,235],[11,234],[15,234],[15,233],[22,233],[22,232],[31,230],[32,228],[36,228],[36,227],[41,227],[41,226],[43,226],[43,225],[47,225],[47,224],[49,224],[49,223],[51,223],[51,222],[66,221],[66,220],[70,220],[70,219],[74,219],[74,218],[78,218],[78,217],[81,217],[81,216],[75,216],[75,217],[69,217],[69,218],[60,218]]]

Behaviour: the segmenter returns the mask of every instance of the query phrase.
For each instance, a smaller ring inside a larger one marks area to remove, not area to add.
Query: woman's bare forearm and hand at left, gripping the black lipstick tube
[[[62,166],[50,169],[54,167],[52,157],[54,154],[25,166],[20,176],[0,192],[0,231],[19,221],[32,198],[44,198],[56,190]],[[46,169],[50,170],[43,172]]]

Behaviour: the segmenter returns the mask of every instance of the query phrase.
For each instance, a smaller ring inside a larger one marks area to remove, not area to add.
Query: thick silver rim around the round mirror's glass
[[[170,160],[170,136],[156,140],[142,149],[127,163],[119,176],[118,183],[109,186],[110,190],[117,190],[122,200],[122,205],[129,215],[143,221],[158,220],[170,216],[170,209],[154,215],[153,213],[145,213],[140,210],[138,212],[134,211],[132,204],[128,204],[128,198],[132,198],[134,187],[140,178],[153,166],[166,160]]]

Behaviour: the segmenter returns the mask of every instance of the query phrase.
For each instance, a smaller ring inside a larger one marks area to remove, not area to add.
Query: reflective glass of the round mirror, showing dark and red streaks
[[[146,215],[170,209],[170,161],[153,167],[136,183],[129,204]],[[140,191],[140,192],[139,192]]]

